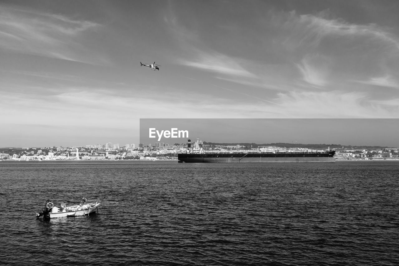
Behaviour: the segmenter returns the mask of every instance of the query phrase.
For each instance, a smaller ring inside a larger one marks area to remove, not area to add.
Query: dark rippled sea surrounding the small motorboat
[[[399,162],[1,161],[1,265],[399,265]],[[47,199],[95,214],[36,218]]]

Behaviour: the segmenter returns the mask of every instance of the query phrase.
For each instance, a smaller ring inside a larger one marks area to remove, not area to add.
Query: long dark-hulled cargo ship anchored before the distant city
[[[205,152],[202,142],[178,153],[179,163],[335,163],[335,151]]]

